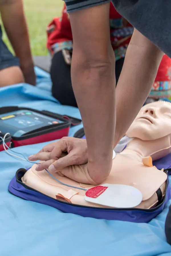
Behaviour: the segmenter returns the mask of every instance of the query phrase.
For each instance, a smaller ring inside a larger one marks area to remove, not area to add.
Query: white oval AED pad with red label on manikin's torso
[[[142,193],[135,187],[120,184],[103,184],[86,191],[85,200],[90,203],[113,208],[133,208],[143,200]]]

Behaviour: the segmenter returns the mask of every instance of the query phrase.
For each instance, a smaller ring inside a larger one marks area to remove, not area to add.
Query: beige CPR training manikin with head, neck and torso
[[[113,159],[111,172],[102,184],[130,185],[141,191],[142,202],[136,208],[152,208],[158,203],[156,191],[166,192],[167,175],[152,166],[152,160],[171,152],[171,103],[152,102],[141,111],[128,129],[126,135],[133,137],[127,147]],[[45,170],[37,172],[36,164],[22,178],[22,182],[55,199],[77,205],[105,207],[85,201],[86,191],[61,185]],[[74,168],[74,167],[72,167]],[[76,166],[77,168],[77,166]],[[63,183],[89,189],[92,185],[78,183],[68,177],[53,174]]]

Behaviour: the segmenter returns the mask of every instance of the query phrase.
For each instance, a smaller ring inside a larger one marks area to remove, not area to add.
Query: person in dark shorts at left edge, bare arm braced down
[[[15,52],[13,56],[3,42],[0,26],[0,87],[21,82],[35,85],[36,77],[22,0],[0,0],[0,13]]]

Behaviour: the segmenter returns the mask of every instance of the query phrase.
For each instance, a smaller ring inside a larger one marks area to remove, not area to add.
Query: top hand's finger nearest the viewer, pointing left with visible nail
[[[74,157],[74,154],[69,153],[68,155],[59,158],[52,165],[49,166],[50,172],[58,172],[67,166],[77,164],[77,159]]]

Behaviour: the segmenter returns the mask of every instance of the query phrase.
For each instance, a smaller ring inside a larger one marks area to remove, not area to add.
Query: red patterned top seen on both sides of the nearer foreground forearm
[[[133,34],[133,26],[116,11],[112,3],[110,3],[109,18],[111,45],[117,61],[125,57],[128,44]],[[51,55],[63,49],[72,51],[72,32],[66,5],[64,5],[61,17],[54,18],[48,25],[47,35],[47,48]]]

